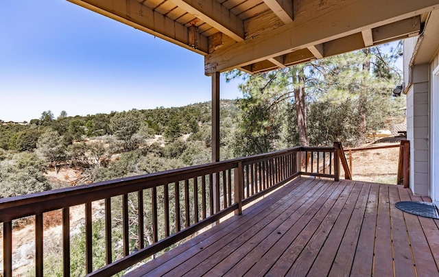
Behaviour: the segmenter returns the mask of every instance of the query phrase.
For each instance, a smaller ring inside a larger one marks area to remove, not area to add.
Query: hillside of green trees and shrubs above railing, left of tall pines
[[[224,142],[237,111],[234,101],[222,100]],[[85,184],[210,162],[210,147],[209,102],[86,117],[63,111],[55,118],[48,110],[27,125],[0,125],[0,197],[58,187],[43,176],[48,167],[78,169],[76,184]],[[222,152],[232,158],[226,145]]]

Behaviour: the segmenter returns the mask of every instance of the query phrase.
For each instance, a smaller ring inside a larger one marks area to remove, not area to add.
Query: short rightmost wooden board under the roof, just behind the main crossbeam
[[[410,19],[390,23],[381,27],[372,29],[373,41],[380,43],[390,38],[398,38],[403,35],[418,34],[420,31],[420,16],[414,16]]]

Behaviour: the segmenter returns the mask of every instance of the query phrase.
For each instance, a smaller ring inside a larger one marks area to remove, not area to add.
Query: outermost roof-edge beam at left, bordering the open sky
[[[67,0],[88,10],[93,10],[110,19],[115,19],[130,25],[143,32],[163,38],[171,43],[185,47],[196,53],[206,55],[208,43],[205,36],[200,36],[198,48],[189,46],[189,31],[185,25],[177,23],[136,0],[108,1],[108,0]]]

